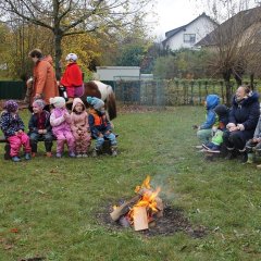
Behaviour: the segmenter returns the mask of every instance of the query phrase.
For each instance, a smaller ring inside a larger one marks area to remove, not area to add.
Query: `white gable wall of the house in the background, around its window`
[[[166,42],[172,50],[178,50],[181,48],[192,48],[196,42],[206,37],[207,34],[214,29],[213,23],[207,17],[199,17],[194,23],[189,24],[186,28],[175,34]],[[196,41],[194,44],[184,42],[184,34],[196,34]]]

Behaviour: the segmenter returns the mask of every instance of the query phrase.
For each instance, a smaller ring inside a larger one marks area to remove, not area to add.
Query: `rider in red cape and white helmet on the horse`
[[[72,103],[75,97],[80,97],[84,94],[83,73],[77,64],[78,57],[75,53],[66,55],[66,69],[60,80],[60,84],[66,88],[67,103]]]

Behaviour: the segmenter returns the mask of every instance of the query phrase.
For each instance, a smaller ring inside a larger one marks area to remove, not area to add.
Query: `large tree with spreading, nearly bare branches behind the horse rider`
[[[0,0],[2,21],[24,22],[42,26],[53,34],[55,71],[60,77],[62,38],[103,28],[117,28],[132,23],[137,14],[145,14],[151,0]]]

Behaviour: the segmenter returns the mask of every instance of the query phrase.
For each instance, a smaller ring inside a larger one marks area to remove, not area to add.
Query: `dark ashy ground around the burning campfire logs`
[[[109,226],[111,229],[126,229],[119,222],[112,221],[110,217],[111,207],[103,209],[103,212],[97,213],[97,220],[101,225]],[[178,232],[184,232],[185,234],[194,237],[201,238],[207,235],[207,228],[204,226],[194,227],[181,208],[173,208],[166,206],[163,211],[163,216],[156,220],[154,225],[146,231],[140,231],[138,233],[145,236],[170,236]]]

